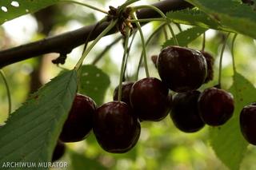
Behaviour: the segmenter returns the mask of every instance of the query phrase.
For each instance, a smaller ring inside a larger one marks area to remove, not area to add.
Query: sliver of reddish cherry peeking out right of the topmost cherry
[[[206,51],[201,51],[203,57],[206,58],[207,63],[207,76],[204,83],[212,81],[214,79],[214,57]]]

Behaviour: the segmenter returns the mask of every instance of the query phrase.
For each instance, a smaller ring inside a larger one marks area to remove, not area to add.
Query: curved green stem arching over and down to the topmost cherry
[[[139,9],[143,9],[143,8],[150,8],[150,9],[152,9],[152,10],[158,12],[158,14],[160,14],[160,15],[162,16],[162,18],[164,18],[164,19],[166,20],[167,26],[168,26],[168,28],[169,28],[169,30],[170,30],[170,34],[171,34],[171,36],[174,38],[174,44],[175,44],[175,45],[178,45],[178,40],[177,40],[177,38],[176,38],[176,36],[175,36],[175,34],[174,34],[174,30],[173,30],[172,27],[170,26],[170,20],[169,20],[169,18],[166,17],[165,14],[163,14],[162,10],[159,10],[159,9],[158,9],[157,7],[155,7],[155,6],[149,6],[149,5],[135,6],[133,9],[134,9],[134,10],[139,10]]]

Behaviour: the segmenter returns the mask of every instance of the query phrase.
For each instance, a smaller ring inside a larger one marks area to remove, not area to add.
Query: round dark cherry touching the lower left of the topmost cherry
[[[161,121],[170,111],[171,96],[162,81],[154,77],[136,81],[130,90],[130,104],[140,121]]]

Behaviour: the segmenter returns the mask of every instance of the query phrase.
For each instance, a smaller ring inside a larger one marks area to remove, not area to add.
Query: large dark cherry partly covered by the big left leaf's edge
[[[93,128],[95,111],[95,102],[90,97],[77,93],[59,139],[63,142],[76,142],[85,139]]]

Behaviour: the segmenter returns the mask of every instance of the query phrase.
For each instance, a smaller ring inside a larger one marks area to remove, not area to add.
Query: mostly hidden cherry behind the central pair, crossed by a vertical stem
[[[130,89],[134,85],[134,81],[122,82],[122,98],[121,101],[125,102],[127,105],[130,105]],[[114,101],[118,101],[118,86],[114,89]]]

